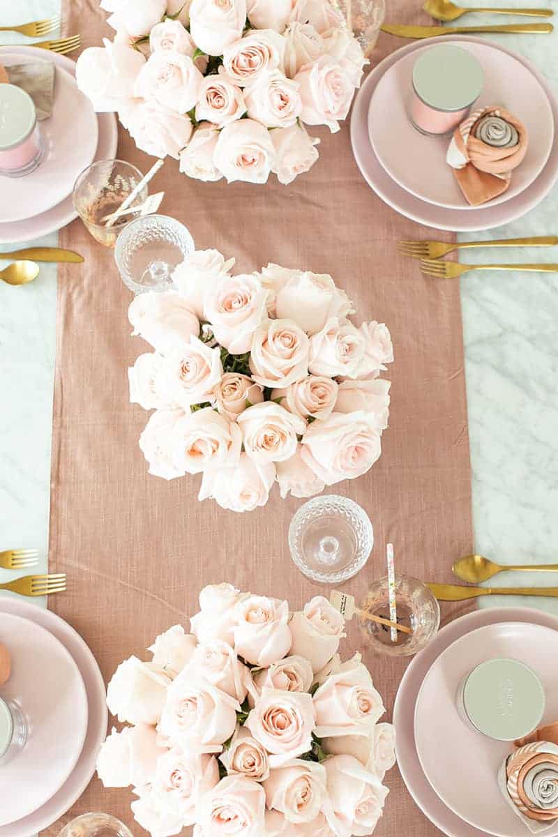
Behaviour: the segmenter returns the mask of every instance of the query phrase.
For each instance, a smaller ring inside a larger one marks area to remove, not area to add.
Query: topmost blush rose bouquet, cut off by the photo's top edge
[[[115,38],[79,56],[95,110],[203,181],[290,183],[339,131],[367,63],[336,0],[102,0]]]

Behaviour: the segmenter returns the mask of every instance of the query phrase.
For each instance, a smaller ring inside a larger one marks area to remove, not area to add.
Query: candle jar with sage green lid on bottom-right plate
[[[469,726],[496,741],[514,741],[539,726],[545,692],[528,665],[495,657],[463,678],[457,702],[459,715]]]

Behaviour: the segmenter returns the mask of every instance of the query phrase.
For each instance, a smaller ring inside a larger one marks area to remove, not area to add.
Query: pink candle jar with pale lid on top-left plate
[[[23,177],[44,157],[31,96],[16,85],[0,85],[0,175]]]

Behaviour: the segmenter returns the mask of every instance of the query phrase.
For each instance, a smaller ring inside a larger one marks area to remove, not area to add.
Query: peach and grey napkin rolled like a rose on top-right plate
[[[453,132],[446,157],[468,203],[478,206],[504,193],[528,143],[523,123],[503,107],[470,113]]]

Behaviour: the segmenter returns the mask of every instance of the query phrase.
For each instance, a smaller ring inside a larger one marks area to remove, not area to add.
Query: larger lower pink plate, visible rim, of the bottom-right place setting
[[[521,622],[544,625],[558,630],[558,617],[532,608],[485,608],[455,619],[445,625],[407,667],[397,690],[393,707],[393,724],[396,729],[397,764],[409,793],[438,829],[448,837],[485,837],[485,832],[466,823],[445,805],[428,782],[418,759],[414,734],[414,713],[422,680],[430,666],[456,639],[482,628],[501,622]],[[528,831],[525,829],[525,837]],[[546,834],[545,834],[546,837]]]

